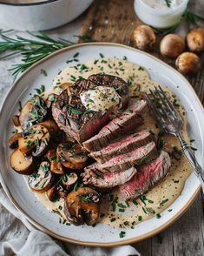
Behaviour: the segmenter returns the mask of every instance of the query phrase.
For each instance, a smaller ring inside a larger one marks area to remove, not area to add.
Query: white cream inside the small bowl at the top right
[[[183,0],[142,0],[144,3],[148,4],[153,9],[162,9],[162,10],[174,10],[178,8]],[[168,3],[169,2],[169,3]]]

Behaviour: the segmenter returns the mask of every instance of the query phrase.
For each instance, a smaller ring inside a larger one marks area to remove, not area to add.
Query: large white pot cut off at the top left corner
[[[13,30],[49,30],[78,17],[94,0],[39,0],[36,3],[12,3],[0,0],[0,28]]]

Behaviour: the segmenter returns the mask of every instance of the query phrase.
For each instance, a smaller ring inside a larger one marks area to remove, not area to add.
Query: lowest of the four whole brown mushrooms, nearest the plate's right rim
[[[175,65],[183,75],[197,73],[201,70],[201,59],[193,52],[183,52],[177,57]]]

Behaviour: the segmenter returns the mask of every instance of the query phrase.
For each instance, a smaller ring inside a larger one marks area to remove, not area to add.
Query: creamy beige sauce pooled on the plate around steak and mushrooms
[[[139,65],[129,63],[128,61],[119,60],[116,58],[101,58],[97,60],[96,64],[95,60],[93,60],[87,62],[85,65],[87,67],[85,71],[80,69],[76,70],[74,67],[68,67],[59,75],[57,75],[53,82],[54,91],[60,93],[63,91],[62,87],[69,87],[70,83],[73,83],[73,77],[76,77],[76,79],[80,76],[87,78],[92,74],[102,71],[106,74],[122,77],[125,81],[127,81],[131,95],[135,98],[140,98],[143,91],[148,91],[149,88],[154,89],[154,86],[158,85],[149,79],[148,72],[145,71],[145,69]],[[169,97],[174,100],[175,96],[172,94],[172,92],[169,91],[166,87],[162,87],[165,88],[165,91],[168,91]],[[177,103],[179,104],[179,100],[177,100]],[[181,117],[184,121],[181,133],[183,137],[189,142],[186,112],[181,106],[178,108],[178,111],[180,111]],[[155,119],[152,117],[150,111],[148,111],[144,120],[145,122],[139,128],[139,130],[148,128],[149,130],[158,133],[159,129],[155,124]],[[174,136],[165,135],[163,136],[163,140],[165,142],[165,148],[172,148],[177,146],[179,149],[181,149],[179,141]],[[134,228],[135,224],[141,222],[142,220],[150,219],[155,216],[160,218],[159,213],[172,205],[174,200],[180,196],[185,181],[188,179],[188,176],[191,173],[191,166],[189,165],[188,160],[184,157],[184,155],[181,156],[181,160],[171,158],[171,161],[172,166],[168,176],[161,180],[159,184],[155,185],[155,187],[152,188],[149,192],[147,192],[145,194],[145,198],[137,199],[134,201],[134,203],[131,201],[125,202],[125,199],[122,199],[120,192],[117,190],[110,192],[113,194],[112,197],[114,197],[114,195],[118,197],[117,202],[114,204],[115,211],[112,211],[113,209],[111,209],[112,206],[109,202],[109,199],[104,199],[104,202],[102,203],[102,218],[100,219],[100,222],[110,226]],[[49,199],[46,198],[44,194],[38,192],[35,193],[37,199],[39,199],[43,205],[46,205],[50,211],[52,211],[52,209],[55,211],[57,210],[60,212],[60,214],[62,214],[60,219],[64,219],[63,199],[60,199],[59,202],[52,203],[49,201]],[[120,209],[124,209],[124,211]],[[168,211],[171,212],[174,211],[174,209],[168,208]],[[60,221],[66,222],[66,220]]]

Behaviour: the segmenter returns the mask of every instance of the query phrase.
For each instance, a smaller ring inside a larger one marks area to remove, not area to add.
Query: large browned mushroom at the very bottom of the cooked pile
[[[100,196],[89,187],[80,187],[69,192],[64,201],[64,214],[75,225],[97,223],[100,214]]]

